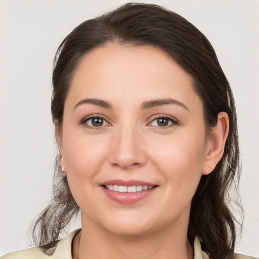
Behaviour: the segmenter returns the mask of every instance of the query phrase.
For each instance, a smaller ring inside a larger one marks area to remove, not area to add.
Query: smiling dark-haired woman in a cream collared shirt
[[[234,99],[184,18],[126,4],[80,24],[56,55],[52,114],[58,182],[35,222],[40,247],[3,258],[250,258],[234,254],[226,205]],[[79,210],[81,230],[58,241]]]

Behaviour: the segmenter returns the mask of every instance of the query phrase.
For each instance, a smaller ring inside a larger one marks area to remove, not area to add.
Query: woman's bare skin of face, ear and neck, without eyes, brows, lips
[[[61,166],[81,208],[73,258],[193,258],[187,239],[191,200],[201,176],[223,155],[228,116],[221,112],[206,136],[192,83],[174,60],[147,46],[108,44],[83,57],[65,100],[62,127],[56,124]],[[89,98],[112,108],[78,104]],[[168,98],[185,107],[142,108],[144,102]],[[104,118],[103,125],[91,126],[92,115]],[[168,125],[158,126],[163,116],[170,117]],[[121,204],[100,186],[112,179],[158,187],[136,203]]]

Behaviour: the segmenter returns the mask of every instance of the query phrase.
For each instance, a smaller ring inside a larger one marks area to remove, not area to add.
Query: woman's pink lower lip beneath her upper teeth
[[[110,191],[102,186],[105,194],[112,200],[122,203],[122,204],[133,204],[136,203],[149,195],[151,195],[157,186],[153,187],[147,191],[140,191],[140,192],[114,192]]]

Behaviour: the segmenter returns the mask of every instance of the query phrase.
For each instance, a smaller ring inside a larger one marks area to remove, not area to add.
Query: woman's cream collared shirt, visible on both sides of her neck
[[[58,244],[48,250],[44,250],[40,247],[33,247],[17,252],[12,252],[4,255],[0,259],[72,259],[71,248],[73,238],[80,231],[77,229],[70,233],[67,237],[60,240]],[[207,254],[202,251],[199,238],[194,240],[194,259],[209,259]],[[245,256],[241,254],[235,254],[236,259],[256,259],[254,257]]]

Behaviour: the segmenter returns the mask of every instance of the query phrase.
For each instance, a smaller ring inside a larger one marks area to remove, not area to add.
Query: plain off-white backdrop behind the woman
[[[55,52],[80,22],[125,2],[0,0],[0,255],[30,247],[30,223],[51,195]],[[245,220],[236,251],[259,256],[259,1],[145,2],[187,18],[218,54],[236,98],[242,152]]]

